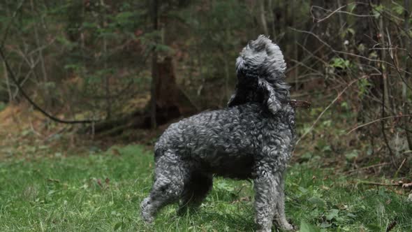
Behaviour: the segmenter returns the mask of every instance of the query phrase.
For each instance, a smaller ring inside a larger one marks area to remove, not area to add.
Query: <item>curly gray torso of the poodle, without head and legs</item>
[[[166,150],[190,159],[197,170],[245,179],[270,140],[291,144],[295,110],[285,106],[272,115],[258,103],[200,113],[171,124],[155,145],[156,159]]]

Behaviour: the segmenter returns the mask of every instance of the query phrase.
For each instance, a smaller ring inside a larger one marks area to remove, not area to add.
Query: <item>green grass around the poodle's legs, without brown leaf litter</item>
[[[252,231],[251,182],[216,178],[200,211],[177,217],[170,205],[153,226],[140,201],[152,184],[153,157],[139,145],[88,156],[0,163],[0,231]],[[287,215],[301,231],[412,231],[407,193],[356,184],[332,169],[293,164]]]

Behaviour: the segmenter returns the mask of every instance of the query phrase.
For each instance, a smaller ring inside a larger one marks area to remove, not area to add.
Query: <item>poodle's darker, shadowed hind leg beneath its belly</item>
[[[178,214],[182,215],[190,210],[195,210],[206,198],[212,189],[213,177],[210,173],[194,171],[190,174],[190,180],[184,186],[184,193],[179,204]]]

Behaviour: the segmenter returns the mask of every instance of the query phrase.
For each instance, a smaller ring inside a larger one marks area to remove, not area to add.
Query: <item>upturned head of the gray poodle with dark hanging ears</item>
[[[279,46],[266,36],[259,36],[250,41],[236,59],[237,92],[231,101],[263,101],[270,112],[277,113],[282,102],[289,98],[289,86],[284,82],[285,71],[286,63]],[[245,93],[239,89],[248,90]]]

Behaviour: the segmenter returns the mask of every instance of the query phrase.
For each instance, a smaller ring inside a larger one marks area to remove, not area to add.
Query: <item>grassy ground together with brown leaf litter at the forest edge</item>
[[[21,110],[0,112],[0,231],[256,229],[253,184],[221,178],[198,212],[177,217],[177,205],[170,205],[154,225],[145,225],[139,205],[152,184],[156,136],[129,145],[97,143]],[[307,152],[310,143],[297,147],[286,180],[290,221],[309,232],[412,231],[410,190],[375,184],[390,185],[394,178],[348,171],[337,157],[325,158],[328,146],[316,155]]]

